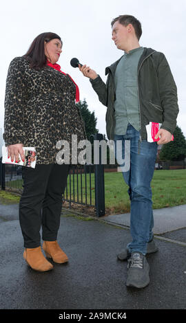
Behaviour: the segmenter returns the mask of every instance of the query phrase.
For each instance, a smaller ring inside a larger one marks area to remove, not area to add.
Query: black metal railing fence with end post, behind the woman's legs
[[[94,140],[103,140],[103,135],[96,134]],[[22,167],[2,164],[0,159],[1,190],[19,192],[23,190]],[[63,200],[81,205],[94,206],[96,215],[105,215],[104,166],[101,164],[101,147],[99,147],[99,164],[74,165],[70,167],[68,183]]]

